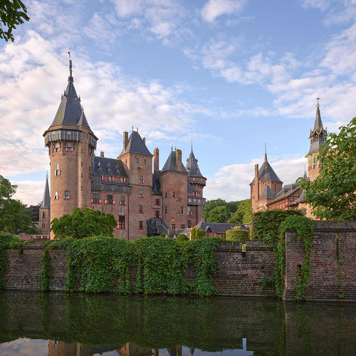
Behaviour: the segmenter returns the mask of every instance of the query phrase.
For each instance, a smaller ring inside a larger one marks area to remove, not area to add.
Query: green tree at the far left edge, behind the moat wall
[[[0,231],[18,234],[37,234],[33,216],[26,211],[26,205],[20,200],[11,199],[17,185],[0,176]],[[37,220],[38,221],[38,220]]]

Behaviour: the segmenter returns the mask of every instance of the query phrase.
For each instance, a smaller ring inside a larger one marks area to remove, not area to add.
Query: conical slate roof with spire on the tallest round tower
[[[77,95],[73,84],[72,61],[69,61],[68,85],[62,95],[61,104],[57,110],[51,126],[74,125],[89,127],[87,118],[84,115],[80,97]],[[50,127],[51,127],[50,126]]]

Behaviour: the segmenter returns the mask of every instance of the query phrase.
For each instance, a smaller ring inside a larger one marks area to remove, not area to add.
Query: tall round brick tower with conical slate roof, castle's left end
[[[51,219],[70,214],[75,206],[90,206],[90,166],[98,138],[91,131],[80,105],[70,60],[67,88],[43,137],[51,165]]]

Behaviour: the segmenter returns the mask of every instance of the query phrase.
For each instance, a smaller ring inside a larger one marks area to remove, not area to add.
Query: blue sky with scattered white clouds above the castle
[[[303,174],[319,94],[328,131],[355,116],[356,1],[25,1],[30,22],[0,43],[0,174],[42,200],[43,132],[74,85],[96,153],[138,126],[160,167],[190,142],[207,199],[249,198],[254,164]]]

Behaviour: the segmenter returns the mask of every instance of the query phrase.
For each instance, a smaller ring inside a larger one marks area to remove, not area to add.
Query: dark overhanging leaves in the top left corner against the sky
[[[0,1],[0,38],[6,42],[14,42],[12,30],[16,29],[15,25],[20,25],[23,20],[29,21],[26,6],[20,0],[1,0]],[[7,27],[7,31],[2,26]]]

